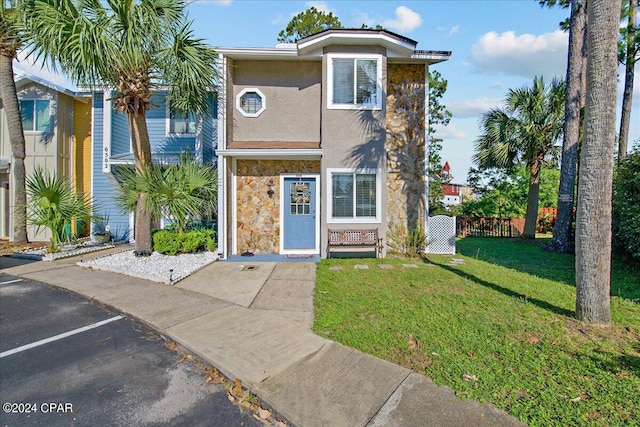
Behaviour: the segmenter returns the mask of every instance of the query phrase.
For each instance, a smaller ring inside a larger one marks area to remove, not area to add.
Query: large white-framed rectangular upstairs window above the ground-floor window
[[[381,108],[381,64],[380,57],[330,55],[328,108]]]

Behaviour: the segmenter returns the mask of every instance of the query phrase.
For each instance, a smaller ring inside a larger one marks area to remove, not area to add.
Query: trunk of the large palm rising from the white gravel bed
[[[151,165],[151,143],[149,142],[149,131],[144,109],[136,113],[127,113],[131,141],[133,145],[133,158],[135,160],[136,171],[140,173]],[[151,214],[144,206],[144,193],[138,194],[136,203],[135,218],[135,255],[151,255]]]

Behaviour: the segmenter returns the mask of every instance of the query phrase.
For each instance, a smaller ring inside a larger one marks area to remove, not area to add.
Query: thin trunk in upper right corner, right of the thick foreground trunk
[[[635,60],[634,40],[636,35],[636,11],[638,0],[629,0],[629,16],[627,23],[627,52],[625,55],[624,94],[622,95],[622,112],[620,115],[620,136],[618,137],[618,164],[627,157],[629,142],[629,124],[631,122],[631,103],[633,100],[633,80]]]

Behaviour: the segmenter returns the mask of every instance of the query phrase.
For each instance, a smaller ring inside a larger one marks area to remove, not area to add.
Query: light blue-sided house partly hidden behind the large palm
[[[120,240],[134,240],[133,212],[127,213],[115,202],[118,185],[114,171],[120,167],[133,167],[133,152],[127,117],[113,109],[110,93],[94,92],[92,103],[92,189],[97,213],[108,218],[111,235]],[[153,108],[146,113],[152,159],[154,162],[172,163],[181,153],[189,150],[203,163],[214,158],[217,139],[217,108],[212,101],[207,117],[190,116],[172,118],[166,103],[166,93],[158,92],[152,98]]]

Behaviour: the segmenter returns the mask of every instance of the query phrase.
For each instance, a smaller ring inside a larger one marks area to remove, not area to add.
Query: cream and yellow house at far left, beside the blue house
[[[47,80],[20,76],[16,90],[25,139],[25,168],[29,177],[40,167],[69,178],[74,188],[91,193],[91,95],[61,87]],[[0,237],[13,240],[15,182],[7,117],[0,99]],[[75,226],[75,224],[74,224]],[[72,230],[74,234],[87,233]],[[50,232],[27,228],[31,241],[48,240]]]

